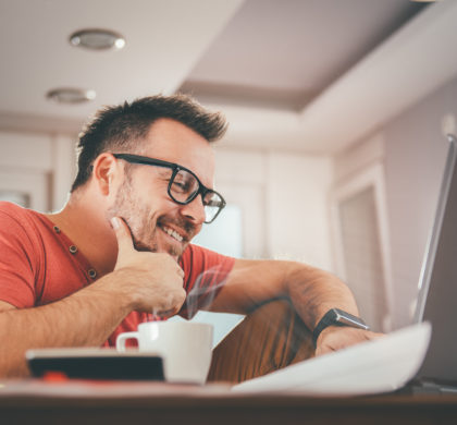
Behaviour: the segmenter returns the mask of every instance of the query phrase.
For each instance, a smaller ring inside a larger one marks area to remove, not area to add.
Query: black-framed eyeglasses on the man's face
[[[112,154],[114,158],[124,159],[131,163],[170,168],[173,172],[169,181],[169,196],[180,205],[192,203],[199,194],[205,207],[205,222],[210,223],[225,207],[225,201],[218,192],[206,187],[197,175],[178,163],[162,161],[133,154]]]

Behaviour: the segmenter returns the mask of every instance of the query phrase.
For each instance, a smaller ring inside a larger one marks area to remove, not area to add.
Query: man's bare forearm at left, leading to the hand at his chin
[[[132,311],[116,278],[108,275],[52,304],[0,313],[0,376],[27,375],[28,349],[101,345]]]

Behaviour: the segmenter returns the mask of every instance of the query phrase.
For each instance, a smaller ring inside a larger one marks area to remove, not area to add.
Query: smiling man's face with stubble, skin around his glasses
[[[140,155],[186,167],[212,187],[214,158],[209,143],[176,121],[161,119],[152,124]],[[178,205],[168,194],[172,170],[144,165],[127,168],[108,218],[119,216],[126,221],[138,251],[166,252],[177,259],[201,230],[201,196]]]

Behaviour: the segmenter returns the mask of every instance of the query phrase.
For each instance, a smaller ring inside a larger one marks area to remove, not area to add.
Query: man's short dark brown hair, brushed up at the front
[[[131,104],[107,107],[79,135],[78,172],[71,192],[89,180],[92,162],[103,151],[119,148],[137,151],[140,147],[138,142],[146,137],[150,126],[160,118],[176,120],[208,142],[220,139],[227,126],[221,113],[207,111],[186,95],[149,96]]]

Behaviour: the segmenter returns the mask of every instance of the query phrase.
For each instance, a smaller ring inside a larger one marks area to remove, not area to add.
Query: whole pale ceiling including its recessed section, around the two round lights
[[[457,74],[456,20],[453,0],[0,0],[0,129],[77,133],[103,105],[184,92],[225,112],[226,147],[333,154]],[[87,27],[126,47],[72,47]]]

